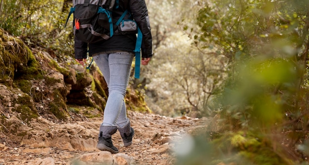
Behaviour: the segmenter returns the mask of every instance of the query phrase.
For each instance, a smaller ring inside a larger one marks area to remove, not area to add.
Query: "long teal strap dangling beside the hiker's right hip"
[[[137,40],[135,45],[135,78],[140,78],[140,70],[141,70],[141,46],[142,46],[142,40],[143,40],[143,33],[138,28],[137,32]]]

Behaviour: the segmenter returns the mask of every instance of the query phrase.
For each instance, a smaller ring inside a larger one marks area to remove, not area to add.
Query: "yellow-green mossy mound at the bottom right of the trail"
[[[275,150],[272,148],[276,141],[258,137],[253,132],[226,133],[210,143],[214,147],[210,150],[218,153],[213,158],[214,162],[235,165],[292,165],[292,161],[284,156],[280,145]]]

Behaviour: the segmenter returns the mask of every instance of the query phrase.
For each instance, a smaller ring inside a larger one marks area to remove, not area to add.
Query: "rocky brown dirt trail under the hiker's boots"
[[[0,165],[173,165],[175,148],[193,130],[205,127],[208,119],[170,118],[129,111],[135,129],[133,144],[123,147],[119,132],[112,138],[118,154],[97,150],[97,134],[103,117],[76,114],[71,121],[56,122],[39,117],[25,124],[7,117],[19,136],[0,134]],[[0,132],[1,133],[1,132]]]

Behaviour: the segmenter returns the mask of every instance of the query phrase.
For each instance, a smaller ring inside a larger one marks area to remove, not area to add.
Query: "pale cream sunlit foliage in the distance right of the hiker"
[[[199,29],[193,22],[202,5],[202,2],[192,0],[148,3],[154,27],[154,58],[142,73],[151,79],[146,82],[146,93],[160,107],[154,106],[156,113],[192,117],[211,115],[208,101],[226,76],[226,58],[195,47],[193,39],[186,35],[190,36],[189,28],[185,32],[182,30],[182,26]]]

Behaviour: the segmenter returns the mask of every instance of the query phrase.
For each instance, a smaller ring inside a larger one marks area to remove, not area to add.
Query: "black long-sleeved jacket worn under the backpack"
[[[128,9],[137,23],[141,32],[143,33],[143,40],[141,46],[141,54],[143,58],[153,56],[152,53],[152,34],[148,16],[148,10],[145,0],[119,0],[119,8],[114,9],[113,19],[117,20],[122,13]],[[126,15],[127,19],[129,14]],[[116,22],[116,21],[115,21]],[[136,34],[120,34],[116,33],[108,40],[85,43],[75,38],[75,58],[87,58],[87,47],[89,46],[89,55],[93,56],[101,52],[109,51],[130,51],[135,49]]]

